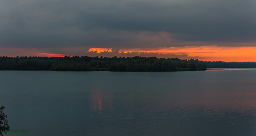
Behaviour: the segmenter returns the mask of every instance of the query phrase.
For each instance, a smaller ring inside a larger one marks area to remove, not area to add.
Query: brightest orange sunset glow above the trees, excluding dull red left
[[[91,48],[89,52],[112,52],[108,48]],[[133,48],[120,49],[119,53],[157,53],[157,54],[186,54],[189,57],[197,57],[200,61],[224,61],[224,62],[255,62],[256,47],[218,47],[218,46],[191,46],[191,47],[160,47],[160,48]]]

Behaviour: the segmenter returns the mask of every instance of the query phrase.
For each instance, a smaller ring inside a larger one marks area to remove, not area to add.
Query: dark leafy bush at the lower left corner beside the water
[[[7,115],[5,115],[3,113],[3,109],[5,107],[2,107],[0,108],[0,135],[3,136],[3,131],[7,131],[7,130],[10,130],[9,129],[9,125],[8,125],[8,121],[7,121]]]

